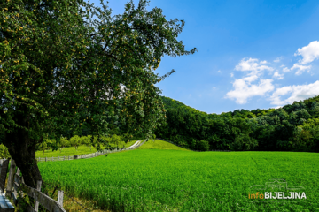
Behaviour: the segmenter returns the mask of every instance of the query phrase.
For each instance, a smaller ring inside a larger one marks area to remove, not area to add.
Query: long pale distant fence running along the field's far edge
[[[37,157],[36,160],[38,162],[49,162],[49,161],[70,161],[70,160],[74,160],[74,159],[92,158],[92,157],[97,157],[97,156],[100,156],[100,155],[106,155],[106,154],[110,154],[110,153],[116,153],[116,152],[121,152],[121,151],[126,151],[126,150],[132,150],[132,149],[138,148],[141,145],[143,145],[145,141],[146,140],[144,140],[141,143],[140,140],[137,140],[129,148],[115,148],[113,150],[105,149],[105,150],[100,151],[100,152],[91,153],[91,154],[85,154],[85,155],[58,156],[58,157],[53,157],[53,156],[52,157]]]

